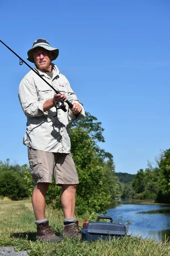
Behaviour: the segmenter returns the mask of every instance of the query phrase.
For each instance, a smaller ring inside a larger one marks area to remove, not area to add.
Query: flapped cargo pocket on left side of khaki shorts
[[[29,160],[31,175],[34,179],[40,179],[44,176],[42,169],[42,158],[34,158]]]

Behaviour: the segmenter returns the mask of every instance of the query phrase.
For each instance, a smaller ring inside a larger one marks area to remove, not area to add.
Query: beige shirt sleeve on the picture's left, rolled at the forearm
[[[43,111],[45,100],[38,100],[34,81],[24,77],[20,82],[18,96],[23,112],[27,117],[37,117],[42,115],[48,117],[48,111]]]

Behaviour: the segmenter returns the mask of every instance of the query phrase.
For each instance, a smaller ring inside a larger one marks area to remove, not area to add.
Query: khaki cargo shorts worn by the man
[[[52,183],[53,176],[58,186],[79,183],[71,154],[45,152],[28,147],[28,160],[34,185],[39,182]]]

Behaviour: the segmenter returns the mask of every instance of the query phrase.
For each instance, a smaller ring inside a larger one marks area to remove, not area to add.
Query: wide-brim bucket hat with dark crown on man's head
[[[28,52],[27,52],[27,55],[28,55],[27,60],[28,60],[28,61],[31,61],[31,62],[34,63],[34,58],[33,58],[32,52],[33,52],[33,50],[34,50],[36,47],[42,47],[42,48],[44,48],[44,49],[46,49],[46,50],[48,50],[48,51],[52,51],[52,52],[53,52],[52,61],[54,61],[55,59],[57,59],[57,57],[58,57],[58,55],[59,55],[59,49],[51,47],[47,40],[40,38],[40,39],[37,39],[37,40],[33,43],[32,48],[28,50]]]

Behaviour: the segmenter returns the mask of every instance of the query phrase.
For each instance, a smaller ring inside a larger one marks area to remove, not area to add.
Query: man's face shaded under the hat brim
[[[35,65],[42,71],[51,72],[52,69],[52,52],[42,48],[36,47],[33,51]]]

